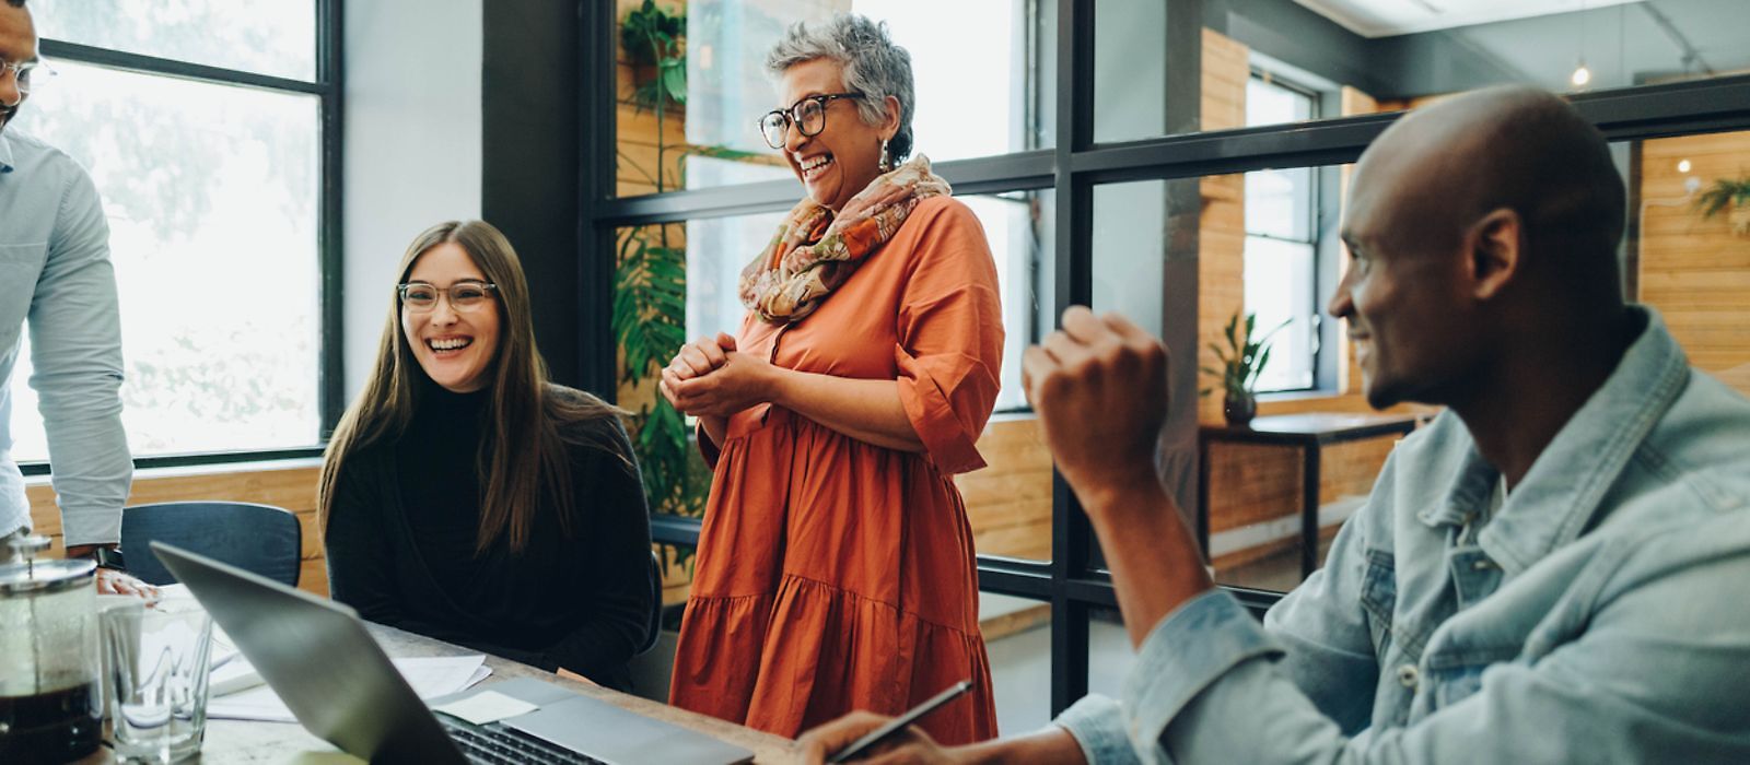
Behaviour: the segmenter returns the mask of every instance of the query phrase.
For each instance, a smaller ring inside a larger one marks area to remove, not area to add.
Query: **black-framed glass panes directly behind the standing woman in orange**
[[[698,515],[709,477],[700,475],[693,458],[688,423],[656,396],[654,365],[667,362],[681,339],[740,327],[746,307],[737,295],[738,274],[803,194],[780,152],[756,128],[777,107],[765,56],[788,24],[822,21],[838,10],[886,23],[894,42],[912,54],[914,152],[928,155],[938,171],[1017,155],[1038,162],[1045,159],[1041,147],[1052,143],[1043,117],[1048,112],[1041,110],[1054,70],[1050,3],[616,3],[611,21],[604,19],[614,38],[614,159],[612,183],[604,192],[676,206],[612,229],[616,363],[612,382],[604,386],[634,412],[648,500],[660,515]],[[966,45],[968,28],[980,30],[978,45]],[[954,182],[956,196],[984,224],[1001,288],[1006,344],[996,409],[1027,419],[1003,426],[1003,444],[985,447],[999,454],[990,473],[1008,480],[962,484],[992,507],[978,515],[973,531],[980,552],[1043,559],[1050,550],[1050,463],[1032,447],[1020,358],[1048,325],[1040,293],[1052,271],[1055,196],[1038,189],[1043,178]],[[732,201],[733,210],[709,199]],[[677,304],[684,309],[677,311]]]

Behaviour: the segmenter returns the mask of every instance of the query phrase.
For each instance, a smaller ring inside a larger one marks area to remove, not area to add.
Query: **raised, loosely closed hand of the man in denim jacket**
[[[1022,386],[1057,470],[1088,512],[1108,496],[1155,487],[1155,444],[1167,419],[1167,349],[1127,318],[1064,311],[1022,356]]]

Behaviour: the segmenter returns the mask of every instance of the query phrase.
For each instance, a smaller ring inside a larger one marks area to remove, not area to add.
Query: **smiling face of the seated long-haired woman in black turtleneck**
[[[499,302],[488,292],[488,299],[457,311],[450,300],[450,286],[462,281],[488,283],[486,274],[462,245],[446,241],[415,258],[406,281],[432,285],[439,295],[429,311],[401,304],[401,332],[420,369],[453,393],[486,388],[499,351]]]

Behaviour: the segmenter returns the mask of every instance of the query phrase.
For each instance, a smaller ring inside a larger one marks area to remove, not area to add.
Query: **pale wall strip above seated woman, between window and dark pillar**
[[[485,0],[346,3],[345,358],[364,386],[415,234],[480,217]]]

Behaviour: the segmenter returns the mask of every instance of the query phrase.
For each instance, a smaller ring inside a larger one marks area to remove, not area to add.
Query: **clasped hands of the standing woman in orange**
[[[682,414],[728,417],[770,402],[775,382],[777,367],[760,356],[738,353],[735,337],[719,332],[681,346],[681,353],[663,367],[658,388]]]

